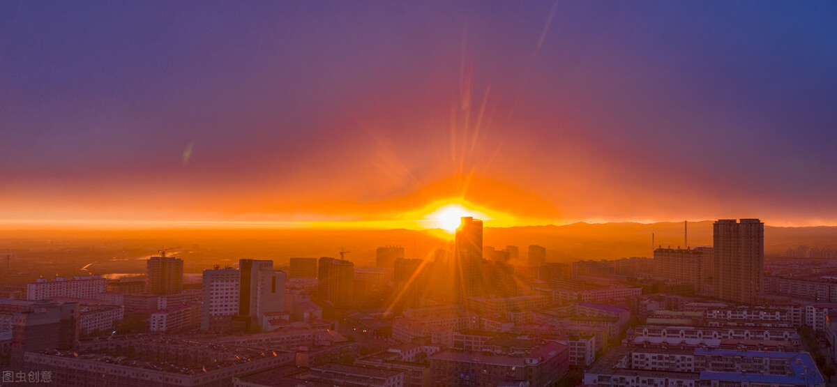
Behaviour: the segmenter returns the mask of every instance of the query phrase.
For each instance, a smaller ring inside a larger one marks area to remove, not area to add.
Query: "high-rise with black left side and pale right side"
[[[273,261],[239,260],[239,314],[247,330],[264,328],[270,313],[285,309],[285,272]]]

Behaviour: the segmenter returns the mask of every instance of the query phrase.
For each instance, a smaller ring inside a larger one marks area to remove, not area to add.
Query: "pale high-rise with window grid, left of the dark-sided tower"
[[[230,327],[232,318],[239,313],[241,279],[234,267],[203,271],[203,307],[201,329],[223,331]]]

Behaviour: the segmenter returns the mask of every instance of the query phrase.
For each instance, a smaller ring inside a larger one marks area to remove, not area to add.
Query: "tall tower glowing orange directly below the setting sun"
[[[482,296],[482,220],[462,217],[454,237],[454,300]]]

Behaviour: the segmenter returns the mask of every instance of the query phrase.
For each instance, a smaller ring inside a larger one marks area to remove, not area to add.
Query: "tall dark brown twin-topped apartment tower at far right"
[[[764,224],[758,219],[721,219],[715,222],[715,297],[755,303],[762,292]]]

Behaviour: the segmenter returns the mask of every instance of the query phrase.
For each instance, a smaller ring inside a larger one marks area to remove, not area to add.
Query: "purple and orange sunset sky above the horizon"
[[[0,227],[837,225],[837,7],[756,4],[3,3]]]

